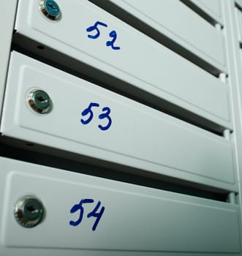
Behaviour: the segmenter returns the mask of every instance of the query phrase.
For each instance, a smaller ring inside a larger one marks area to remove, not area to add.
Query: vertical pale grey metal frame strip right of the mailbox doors
[[[236,1],[241,3],[242,1]],[[232,140],[235,142],[235,151],[236,151],[236,169],[239,182],[239,193],[238,203],[242,204],[242,65],[241,65],[241,49],[239,46],[238,40],[241,39],[239,29],[238,29],[238,8],[235,7],[234,1],[224,1],[223,3],[224,11],[224,35],[227,38],[227,52],[228,52],[228,61],[229,65],[229,74],[230,74],[230,89],[231,89],[231,106],[234,118],[234,132],[232,132]],[[241,27],[242,28],[242,27]]]

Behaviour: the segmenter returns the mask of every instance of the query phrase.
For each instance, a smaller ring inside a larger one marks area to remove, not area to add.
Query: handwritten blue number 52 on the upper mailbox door
[[[97,31],[96,34],[88,34],[88,38],[91,39],[97,39],[100,36],[100,31],[98,29],[98,26],[105,26],[107,28],[107,24],[102,23],[101,21],[97,21],[94,26],[89,26],[86,31],[91,32],[91,31]],[[110,41],[106,42],[107,47],[110,46],[113,50],[120,50],[119,46],[114,46],[114,43],[116,42],[117,39],[117,33],[115,30],[110,31],[109,36],[112,38]]]

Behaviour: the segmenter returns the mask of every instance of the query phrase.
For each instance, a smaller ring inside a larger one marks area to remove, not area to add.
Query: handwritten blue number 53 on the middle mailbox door
[[[99,107],[99,104],[98,103],[95,103],[95,102],[91,102],[89,105],[88,105],[88,108],[86,108],[85,110],[83,110],[83,112],[81,113],[82,116],[88,116],[88,118],[86,120],[84,120],[83,118],[80,119],[80,122],[84,125],[86,124],[89,124],[91,122],[91,120],[94,118],[94,113],[93,111],[91,110],[91,108],[94,108],[94,107]],[[99,129],[101,129],[102,131],[106,131],[107,129],[110,128],[111,124],[112,124],[112,118],[110,117],[110,113],[111,113],[111,110],[110,108],[108,107],[105,107],[105,108],[102,108],[102,113],[99,114],[99,119],[105,119],[107,118],[107,125],[106,126],[102,126],[101,124],[99,124]]]

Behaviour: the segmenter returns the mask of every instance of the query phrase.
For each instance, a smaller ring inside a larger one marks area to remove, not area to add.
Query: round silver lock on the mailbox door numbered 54
[[[15,204],[14,216],[19,225],[35,227],[42,221],[44,206],[37,197],[25,195]]]

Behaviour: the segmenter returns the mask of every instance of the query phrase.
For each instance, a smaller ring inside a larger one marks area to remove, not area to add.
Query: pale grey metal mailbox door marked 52
[[[18,32],[231,128],[227,86],[219,79],[88,1],[73,0],[71,9],[67,1],[58,2],[62,18],[50,22],[39,12],[37,1],[20,1]],[[101,36],[90,39],[86,29],[97,20],[108,27],[99,27]],[[113,30],[118,34],[115,46],[120,50],[106,46]]]

